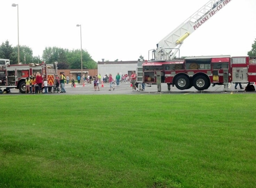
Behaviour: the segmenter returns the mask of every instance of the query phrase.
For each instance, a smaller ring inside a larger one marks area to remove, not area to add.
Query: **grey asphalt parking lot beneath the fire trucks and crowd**
[[[243,88],[247,84],[242,84]],[[244,89],[235,90],[235,84],[229,84],[227,92],[224,92],[224,86],[210,86],[207,90],[198,91],[194,87],[189,90],[178,90],[175,86],[171,86],[171,90],[168,91],[167,84],[162,83],[161,92],[157,92],[156,85],[146,85],[145,91],[132,91],[130,83],[120,83],[120,86],[114,86],[115,90],[109,91],[109,84],[99,84],[100,90],[95,91],[93,84],[76,84],[76,87],[71,87],[71,84],[65,84],[66,93],[51,93],[48,94],[247,94],[254,92],[245,92]],[[21,94],[17,89],[11,89],[9,94]]]

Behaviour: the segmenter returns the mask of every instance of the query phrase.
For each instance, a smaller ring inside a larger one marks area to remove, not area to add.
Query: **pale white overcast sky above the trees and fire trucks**
[[[94,61],[148,59],[148,50],[209,0],[0,0],[0,42],[42,57],[46,47],[82,48]],[[256,0],[231,0],[180,47],[180,56],[246,56],[256,39]]]

